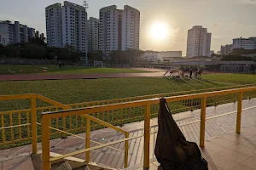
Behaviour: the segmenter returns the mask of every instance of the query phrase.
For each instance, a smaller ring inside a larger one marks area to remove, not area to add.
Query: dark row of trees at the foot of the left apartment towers
[[[127,49],[125,51],[112,51],[108,56],[102,54],[102,51],[88,53],[88,63],[94,61],[106,61],[111,65],[131,64],[143,54],[138,49]],[[20,42],[3,46],[0,44],[0,57],[24,58],[24,59],[58,59],[78,61],[81,57],[85,57],[85,53],[81,53],[73,46],[66,45],[65,48],[48,47],[47,44],[39,38],[33,38],[30,42]]]

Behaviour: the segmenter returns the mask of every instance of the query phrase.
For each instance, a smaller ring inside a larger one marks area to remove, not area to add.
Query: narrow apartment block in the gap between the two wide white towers
[[[90,17],[88,23],[88,49],[89,52],[99,50],[99,19]]]

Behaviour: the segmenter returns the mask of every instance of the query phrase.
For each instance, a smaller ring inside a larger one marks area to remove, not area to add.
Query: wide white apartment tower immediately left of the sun
[[[125,5],[100,9],[99,50],[109,54],[113,50],[139,48],[140,12]]]

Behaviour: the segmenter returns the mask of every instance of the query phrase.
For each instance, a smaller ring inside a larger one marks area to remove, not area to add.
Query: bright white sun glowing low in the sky
[[[168,27],[164,22],[155,22],[150,33],[154,40],[163,40],[168,36]]]

